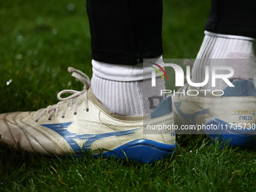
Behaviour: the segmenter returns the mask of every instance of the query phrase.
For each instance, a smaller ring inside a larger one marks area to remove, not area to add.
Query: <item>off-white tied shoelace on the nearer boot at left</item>
[[[90,87],[90,78],[88,78],[87,75],[85,75],[83,72],[74,69],[72,67],[68,68],[68,72],[73,72],[72,76],[77,78],[79,81],[81,81],[84,84],[84,90],[77,91],[77,90],[62,90],[58,93],[57,98],[60,102],[58,102],[56,105],[50,105],[47,108],[41,108],[40,110],[36,111],[34,114],[35,122],[38,122],[38,120],[45,114],[48,116],[48,120],[51,120],[53,117],[53,114],[56,114],[56,117],[59,115],[59,106],[62,104],[62,102],[66,102],[66,105],[62,109],[62,118],[65,117],[67,108],[71,107],[71,110],[73,109],[73,100],[78,97],[78,99],[75,102],[75,108],[74,108],[74,114],[77,114],[78,111],[78,102],[83,97],[84,99],[84,105],[87,111],[89,111],[88,107],[88,100],[87,100],[87,91]],[[63,93],[72,93],[71,96],[68,96],[66,98],[62,98],[61,95]]]

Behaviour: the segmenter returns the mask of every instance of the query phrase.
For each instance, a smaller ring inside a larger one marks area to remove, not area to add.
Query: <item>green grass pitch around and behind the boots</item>
[[[75,4],[73,11],[67,5]],[[0,2],[0,113],[53,105],[56,93],[81,90],[68,66],[91,77],[86,1]],[[164,58],[194,58],[210,1],[165,1]],[[11,80],[11,81],[10,81]],[[7,82],[11,82],[7,85]],[[254,191],[256,153],[177,136],[173,160],[48,158],[0,145],[0,191]]]

